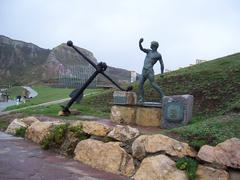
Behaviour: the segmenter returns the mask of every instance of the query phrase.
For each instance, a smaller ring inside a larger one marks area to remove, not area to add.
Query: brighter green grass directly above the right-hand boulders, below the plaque
[[[178,137],[199,150],[201,146],[217,145],[229,138],[240,138],[240,115],[229,114],[205,118],[187,126],[165,130],[163,133]]]

